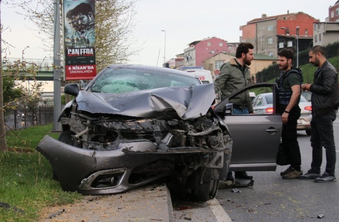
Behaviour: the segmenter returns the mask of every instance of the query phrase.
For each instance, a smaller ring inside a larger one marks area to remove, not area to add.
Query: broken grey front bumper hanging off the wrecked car
[[[231,146],[231,142],[229,144]],[[155,147],[153,143],[144,140],[120,143],[114,150],[89,150],[45,136],[37,145],[36,150],[50,161],[63,190],[91,195],[121,193],[167,175],[164,172],[142,181],[131,182],[130,176],[133,170],[147,163],[159,160],[174,162],[175,153],[211,152],[211,150],[201,148],[156,152]],[[206,167],[222,169],[224,150],[212,152],[216,155]],[[230,158],[230,155],[227,158]],[[226,161],[229,162],[230,159]],[[99,181],[103,180],[106,180],[106,186],[98,185]]]

